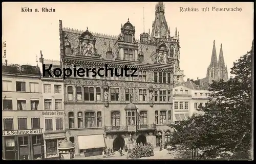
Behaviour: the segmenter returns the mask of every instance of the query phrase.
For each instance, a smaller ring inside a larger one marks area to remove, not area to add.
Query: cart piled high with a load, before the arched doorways
[[[144,146],[136,145],[132,150],[127,153],[127,158],[141,158],[150,157],[154,155],[154,148],[151,144],[146,144]]]

